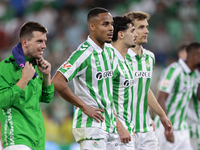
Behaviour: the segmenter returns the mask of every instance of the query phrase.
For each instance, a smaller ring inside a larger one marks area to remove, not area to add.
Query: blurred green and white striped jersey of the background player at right
[[[196,81],[195,72],[191,72],[182,59],[172,63],[162,73],[159,90],[169,94],[165,107],[174,130],[188,129],[187,109]],[[158,116],[155,118],[155,123],[159,127]]]

